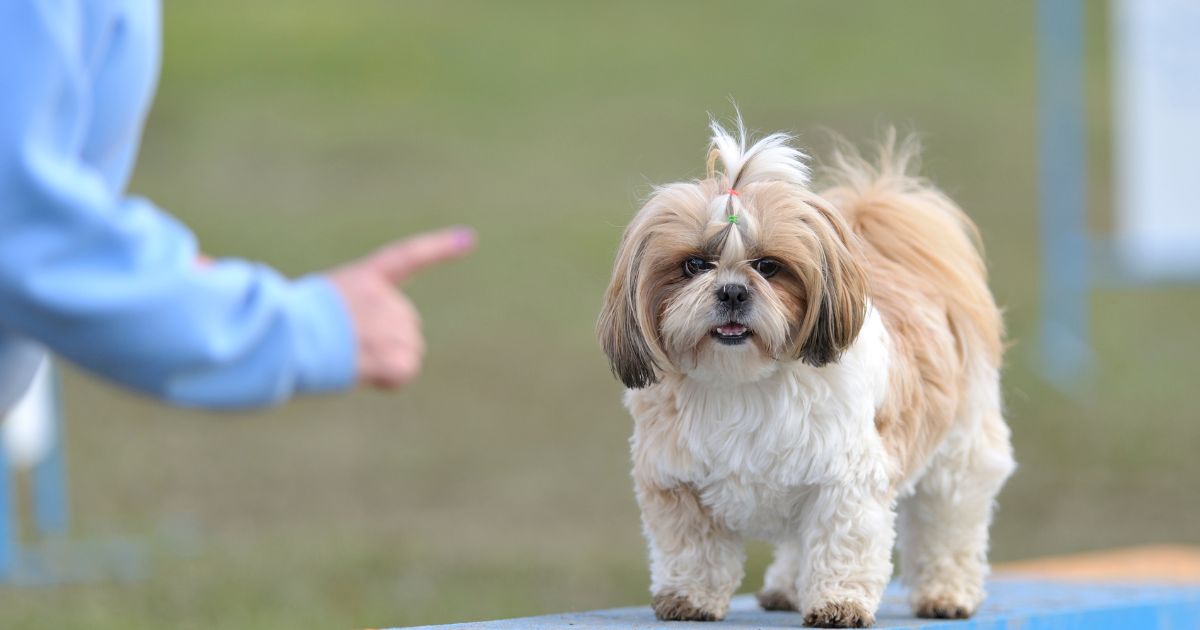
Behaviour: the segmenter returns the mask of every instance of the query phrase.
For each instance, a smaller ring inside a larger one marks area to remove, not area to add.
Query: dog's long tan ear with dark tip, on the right
[[[836,361],[854,342],[866,319],[866,274],[850,226],[824,199],[815,198],[814,229],[821,247],[821,278],[809,289],[799,359],[821,367]]]

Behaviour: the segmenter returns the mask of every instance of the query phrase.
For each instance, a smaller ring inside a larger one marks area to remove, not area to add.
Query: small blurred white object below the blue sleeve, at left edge
[[[54,378],[50,360],[42,356],[34,380],[4,414],[4,446],[14,468],[32,468],[54,445]]]

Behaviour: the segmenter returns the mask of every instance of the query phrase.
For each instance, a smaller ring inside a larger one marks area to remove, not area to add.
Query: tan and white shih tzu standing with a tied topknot
[[[916,614],[968,617],[1014,468],[978,232],[911,140],[844,146],[816,192],[790,136],[712,131],[706,178],[625,229],[599,322],[654,612],[724,618],[754,536],[775,545],[764,608],[868,626],[899,534]]]

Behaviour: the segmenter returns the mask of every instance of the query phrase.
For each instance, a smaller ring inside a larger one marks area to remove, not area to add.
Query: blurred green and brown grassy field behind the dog
[[[1105,6],[1088,5],[1092,220],[1110,190]],[[208,252],[320,270],[474,226],[412,283],[427,370],[258,414],[68,373],[79,540],[150,575],[0,589],[0,628],[352,628],[648,601],[630,420],[593,323],[654,182],[702,173],[708,113],[863,140],[919,131],[979,223],[1013,341],[1021,468],[994,558],[1200,542],[1200,290],[1094,296],[1091,390],[1037,377],[1030,1],[168,1],[132,190]],[[750,547],[745,589],[769,552]]]

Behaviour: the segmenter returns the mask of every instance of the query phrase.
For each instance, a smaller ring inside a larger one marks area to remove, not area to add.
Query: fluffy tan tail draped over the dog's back
[[[871,161],[844,140],[822,169],[823,197],[838,205],[862,239],[870,264],[889,268],[910,289],[946,304],[964,350],[977,348],[997,366],[1003,323],[988,289],[979,230],[949,197],[917,175],[920,145],[888,130]],[[876,276],[878,277],[878,276]],[[887,287],[875,286],[883,299]]]

